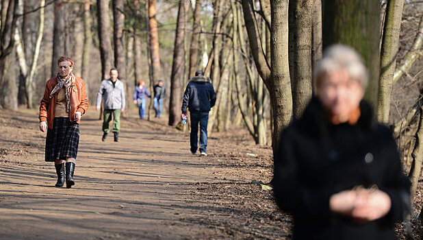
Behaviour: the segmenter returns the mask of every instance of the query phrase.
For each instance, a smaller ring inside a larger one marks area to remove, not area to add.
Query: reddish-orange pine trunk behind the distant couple
[[[155,0],[149,0],[149,33],[150,33],[150,51],[151,51],[151,67],[153,70],[153,79],[151,85],[158,80],[157,77],[160,72],[160,55],[159,55],[159,32],[157,31]]]

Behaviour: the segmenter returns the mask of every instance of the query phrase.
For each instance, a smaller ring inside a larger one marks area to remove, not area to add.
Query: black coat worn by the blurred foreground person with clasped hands
[[[333,125],[318,99],[281,135],[274,159],[274,196],[294,216],[294,239],[396,239],[394,223],[409,213],[409,180],[402,173],[390,130],[360,105],[355,125]],[[329,211],[329,197],[362,185],[389,195],[392,206],[376,221],[359,224]]]

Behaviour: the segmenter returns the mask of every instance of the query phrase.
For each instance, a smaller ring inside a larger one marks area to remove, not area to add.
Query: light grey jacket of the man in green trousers
[[[99,93],[97,93],[97,104],[101,105],[101,97],[104,99],[105,109],[124,109],[125,108],[125,90],[123,83],[116,80],[115,86],[109,79],[101,81]]]

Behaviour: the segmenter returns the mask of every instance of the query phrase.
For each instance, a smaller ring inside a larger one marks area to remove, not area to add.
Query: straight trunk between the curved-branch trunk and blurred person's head
[[[311,34],[313,0],[290,0],[290,77],[294,118],[303,115],[311,99]]]

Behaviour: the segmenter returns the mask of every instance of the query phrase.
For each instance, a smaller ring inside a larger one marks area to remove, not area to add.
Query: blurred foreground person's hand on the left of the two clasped
[[[353,190],[346,190],[331,195],[329,209],[333,213],[350,216],[357,201],[357,193]]]

